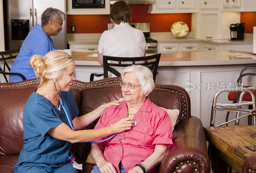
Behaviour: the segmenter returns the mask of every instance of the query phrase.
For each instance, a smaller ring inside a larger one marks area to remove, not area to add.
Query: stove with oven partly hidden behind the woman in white
[[[157,53],[157,40],[150,38],[150,23],[129,23],[132,27],[140,29],[144,36],[148,46],[147,53]],[[114,25],[108,23],[108,30],[112,29]]]

